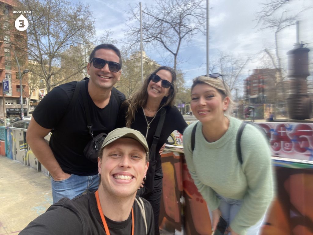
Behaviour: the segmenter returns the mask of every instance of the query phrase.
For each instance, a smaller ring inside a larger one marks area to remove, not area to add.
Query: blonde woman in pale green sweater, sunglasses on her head
[[[229,87],[221,74],[199,76],[191,87],[191,110],[199,122],[189,125],[183,138],[187,167],[211,212],[215,230],[219,217],[228,223],[225,234],[257,234],[273,198],[270,150],[264,135],[246,125],[241,136],[242,164],[236,153],[240,120]],[[194,148],[192,129],[196,126]],[[252,232],[254,231],[254,232]]]

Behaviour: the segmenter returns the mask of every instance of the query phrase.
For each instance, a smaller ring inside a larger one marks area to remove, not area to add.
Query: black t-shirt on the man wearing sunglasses
[[[88,82],[89,79],[85,81],[86,88]],[[86,159],[83,154],[91,136],[87,128],[81,91],[74,105],[68,110],[75,86],[74,81],[55,87],[38,104],[33,112],[33,118],[40,126],[54,129],[49,145],[65,173],[80,176],[96,175],[98,174],[97,164]],[[125,100],[123,93],[118,91],[117,95],[120,102]],[[87,99],[94,136],[114,130],[119,106],[113,92],[111,92],[109,104],[104,108],[95,105],[88,89]]]

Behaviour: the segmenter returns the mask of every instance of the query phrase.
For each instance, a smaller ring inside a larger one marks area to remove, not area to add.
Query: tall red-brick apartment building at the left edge
[[[14,52],[19,58],[21,73],[26,68],[27,61],[21,59],[23,48],[14,46],[14,42],[21,37],[26,37],[26,31],[15,29],[14,21],[18,14],[13,15],[17,2],[13,0],[0,0],[0,118],[6,116],[20,116],[21,102],[23,102],[24,115],[27,115],[26,97],[28,97],[28,86],[25,79],[27,74],[22,76],[22,87]],[[4,80],[4,82],[3,82]],[[9,91],[3,92],[3,85],[9,84]],[[23,99],[21,100],[21,89],[23,89]],[[6,93],[8,92],[8,93]],[[6,94],[4,94],[6,93]]]

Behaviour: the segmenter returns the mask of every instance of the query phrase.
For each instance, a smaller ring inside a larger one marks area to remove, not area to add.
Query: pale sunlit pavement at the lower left
[[[52,205],[50,177],[0,155],[0,235],[16,235]]]

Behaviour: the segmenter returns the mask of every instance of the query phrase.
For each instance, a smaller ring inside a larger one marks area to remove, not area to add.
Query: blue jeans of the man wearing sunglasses
[[[96,191],[98,186],[98,175],[79,176],[72,174],[69,178],[60,181],[55,181],[51,177],[53,203],[58,202],[63,197],[73,199],[86,190],[90,192]]]

